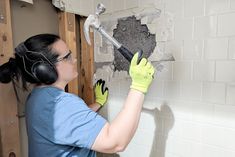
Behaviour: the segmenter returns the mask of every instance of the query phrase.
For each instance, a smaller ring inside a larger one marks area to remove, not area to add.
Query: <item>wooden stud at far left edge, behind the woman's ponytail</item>
[[[6,18],[0,23],[0,64],[9,60],[13,55],[13,41],[11,30],[11,15],[9,0],[1,0],[5,6]],[[1,14],[1,13],[0,13]],[[20,156],[19,121],[17,117],[17,102],[12,84],[0,83],[0,156],[9,154]]]

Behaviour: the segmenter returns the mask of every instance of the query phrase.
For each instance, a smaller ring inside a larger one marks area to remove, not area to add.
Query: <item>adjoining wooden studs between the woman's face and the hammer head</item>
[[[78,77],[68,84],[68,92],[80,96],[88,105],[94,103],[94,35],[90,33],[91,46],[87,44],[83,25],[86,17],[59,12],[59,34],[77,59]]]

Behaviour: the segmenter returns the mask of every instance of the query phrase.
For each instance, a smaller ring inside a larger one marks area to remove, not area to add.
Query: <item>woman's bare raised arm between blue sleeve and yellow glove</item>
[[[123,151],[136,131],[143,101],[144,94],[131,89],[121,112],[111,123],[105,124],[92,149],[105,153]]]

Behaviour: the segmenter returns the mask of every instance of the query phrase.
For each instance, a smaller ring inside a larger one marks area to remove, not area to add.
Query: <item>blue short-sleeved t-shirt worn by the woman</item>
[[[105,123],[81,98],[35,88],[26,102],[29,157],[95,157],[90,148]]]

